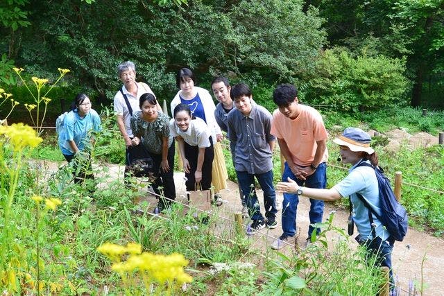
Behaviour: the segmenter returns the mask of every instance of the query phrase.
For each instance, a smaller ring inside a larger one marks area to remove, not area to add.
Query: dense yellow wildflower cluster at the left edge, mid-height
[[[27,146],[34,148],[43,141],[42,138],[37,136],[33,128],[23,123],[0,126],[0,135],[2,134],[9,139],[12,149],[15,151],[21,151]]]

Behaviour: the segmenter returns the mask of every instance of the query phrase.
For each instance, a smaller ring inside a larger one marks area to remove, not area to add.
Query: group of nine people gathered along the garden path
[[[327,130],[321,114],[298,101],[298,90],[294,85],[282,84],[275,88],[273,101],[278,108],[271,114],[255,103],[248,85],[239,83],[231,87],[225,77],[212,81],[212,92],[219,101],[214,105],[210,92],[196,86],[194,73],[182,68],[176,76],[179,91],[171,101],[170,119],[162,112],[151,88],[136,81],[133,62],[119,64],[118,73],[123,86],[114,96],[114,112],[126,143],[126,165],[130,165],[130,156],[142,148],[153,159],[153,190],[164,197],[160,198],[155,211],[169,207],[176,198],[173,139],[178,143],[187,191],[195,191],[197,184],[200,189],[206,190],[211,189],[212,184],[214,186],[215,164],[224,163],[223,157],[217,157],[215,150],[218,145],[220,148],[219,141],[226,132],[243,211],[251,219],[248,235],[256,234],[265,227],[272,229],[278,226],[275,189],[284,193],[282,234],[271,244],[275,250],[294,243],[300,196],[308,197],[311,204],[307,243],[312,232],[321,231],[314,225],[322,222],[323,202],[350,196],[360,243],[377,255],[379,265],[391,268],[393,239],[377,217],[373,217],[373,225],[370,225],[368,210],[357,198],[357,193],[363,195],[368,204],[381,213],[373,168],[357,167],[361,162],[373,166],[378,164],[377,154],[370,148],[371,137],[366,132],[347,128],[334,139],[334,143],[339,145],[342,162],[352,167],[345,179],[326,189]],[[83,147],[78,139],[91,139],[85,131],[100,130],[100,119],[85,95],[76,98],[68,119],[67,132],[60,134],[59,143],[69,162]],[[282,182],[274,186],[272,154],[276,141],[285,164]],[[226,179],[217,174],[219,179]],[[261,211],[257,200],[256,181],[264,193],[264,211]],[[221,189],[219,186],[215,192]],[[216,194],[216,204],[219,204],[219,198]]]

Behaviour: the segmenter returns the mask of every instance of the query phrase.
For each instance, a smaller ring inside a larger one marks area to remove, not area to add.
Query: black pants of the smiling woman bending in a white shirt
[[[207,190],[211,188],[211,180],[212,180],[212,168],[213,168],[213,159],[214,159],[214,148],[212,137],[210,137],[210,147],[205,148],[205,157],[203,159],[202,165],[202,180],[200,184],[202,185],[202,190]],[[190,146],[187,142],[185,142],[185,158],[188,159],[189,166],[191,167],[189,173],[185,173],[185,177],[187,177],[187,181],[185,182],[185,186],[187,186],[187,191],[195,191],[195,183],[196,178],[194,177],[194,173],[197,169],[197,158],[199,154],[198,146]]]

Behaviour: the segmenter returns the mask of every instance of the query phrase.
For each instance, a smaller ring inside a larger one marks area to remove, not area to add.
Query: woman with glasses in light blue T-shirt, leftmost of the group
[[[94,137],[92,131],[101,130],[101,120],[99,114],[91,108],[91,101],[86,94],[78,94],[71,104],[69,111],[63,119],[63,128],[58,135],[58,145],[67,162],[78,159],[74,162],[74,172],[77,171],[78,164],[82,163],[80,173],[75,175],[74,182],[80,183],[85,178],[94,179],[92,173],[87,173],[90,161],[90,150]],[[87,157],[76,157],[80,152],[87,153]],[[85,161],[87,159],[87,161]]]

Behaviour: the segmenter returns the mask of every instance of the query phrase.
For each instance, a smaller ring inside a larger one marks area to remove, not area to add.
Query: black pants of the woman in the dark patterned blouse
[[[159,206],[165,208],[171,204],[171,200],[176,199],[176,186],[174,185],[174,141],[168,148],[167,159],[169,171],[164,172],[160,167],[160,163],[162,162],[162,154],[150,153],[150,155],[153,159],[153,177],[155,178],[151,186],[153,186],[153,190],[156,194],[170,199],[159,199]],[[163,189],[160,189],[159,187],[163,187]]]

